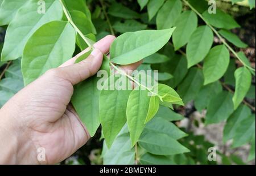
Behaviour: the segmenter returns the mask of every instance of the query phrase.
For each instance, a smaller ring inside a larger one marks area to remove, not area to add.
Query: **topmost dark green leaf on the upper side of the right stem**
[[[207,10],[202,15],[209,24],[216,28],[233,29],[240,27],[232,16],[218,9],[216,9],[216,14],[210,14]]]

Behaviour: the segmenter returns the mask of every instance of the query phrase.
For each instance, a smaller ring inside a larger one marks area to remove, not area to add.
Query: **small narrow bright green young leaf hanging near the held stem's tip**
[[[159,98],[157,96],[151,96],[150,97],[150,103],[148,106],[148,111],[147,111],[147,117],[144,123],[149,122],[154,116],[155,114],[158,112],[159,109]]]

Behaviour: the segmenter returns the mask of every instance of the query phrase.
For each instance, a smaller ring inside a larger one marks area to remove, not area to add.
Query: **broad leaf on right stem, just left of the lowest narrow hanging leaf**
[[[225,45],[217,45],[210,49],[204,59],[204,85],[220,79],[229,66],[229,50]]]

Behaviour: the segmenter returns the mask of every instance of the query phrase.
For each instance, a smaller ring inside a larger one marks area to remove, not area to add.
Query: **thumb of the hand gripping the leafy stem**
[[[59,72],[60,78],[68,80],[72,85],[75,85],[96,74],[101,67],[102,58],[101,51],[94,49],[89,57],[83,61],[74,65],[56,68],[56,71]]]

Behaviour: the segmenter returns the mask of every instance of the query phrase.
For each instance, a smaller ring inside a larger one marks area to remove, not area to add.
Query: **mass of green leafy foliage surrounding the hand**
[[[176,112],[191,102],[196,110],[207,110],[205,125],[225,122],[224,143],[250,144],[248,161],[255,158],[255,108],[245,99],[255,99],[255,69],[234,50],[247,45],[230,30],[240,27],[232,16],[219,9],[210,14],[204,0],[44,2],[46,12],[39,13],[38,0],[0,1],[0,25],[7,25],[0,106],[50,68],[112,34],[118,37],[101,70],[110,73],[112,67],[120,77],[109,75],[104,87],[114,79],[118,85],[125,80],[127,87],[133,81],[137,88],[101,91],[95,75],[75,85],[71,100],[91,136],[101,125],[104,164],[216,164],[207,160],[213,144],[178,126],[184,117]],[[143,58],[138,70],[159,71],[158,93],[119,67]],[[241,164],[237,156],[218,155],[224,164]]]

